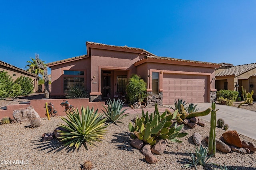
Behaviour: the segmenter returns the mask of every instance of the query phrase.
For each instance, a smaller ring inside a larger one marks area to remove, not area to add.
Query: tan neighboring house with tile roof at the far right
[[[241,91],[241,86],[247,92],[256,90],[256,63],[233,66],[215,74],[217,90]]]

